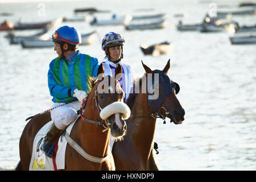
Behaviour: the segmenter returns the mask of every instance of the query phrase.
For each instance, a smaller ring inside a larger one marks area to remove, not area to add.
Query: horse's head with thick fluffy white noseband
[[[98,107],[99,117],[105,122],[105,129],[111,129],[113,137],[122,137],[126,131],[126,122],[130,109],[123,103],[125,93],[118,80],[122,75],[122,67],[118,65],[115,77],[104,76],[104,68],[101,64],[98,69],[98,81],[93,90],[95,106]]]

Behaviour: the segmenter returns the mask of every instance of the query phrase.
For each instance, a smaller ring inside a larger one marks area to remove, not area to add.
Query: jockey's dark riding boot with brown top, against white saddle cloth
[[[59,137],[61,131],[62,130],[59,130],[53,122],[53,124],[50,127],[50,130],[46,134],[46,137],[43,139],[41,150],[45,152],[45,155],[49,156],[49,158],[52,158],[54,155],[54,141],[57,137]]]

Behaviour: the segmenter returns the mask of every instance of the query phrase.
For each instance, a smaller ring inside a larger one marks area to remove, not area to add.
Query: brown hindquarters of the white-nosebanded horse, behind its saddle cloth
[[[39,114],[35,115],[25,126],[19,139],[19,156],[22,170],[29,170],[35,135],[50,120],[50,113]]]

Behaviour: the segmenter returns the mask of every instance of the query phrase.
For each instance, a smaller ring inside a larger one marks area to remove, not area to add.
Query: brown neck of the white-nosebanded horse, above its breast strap
[[[95,105],[93,106],[93,100],[88,98],[85,113],[83,117],[91,119],[93,121],[101,121],[99,119],[98,110]],[[92,108],[94,108],[92,110]],[[78,128],[78,137],[81,141],[81,147],[90,155],[102,158],[107,155],[110,139],[110,131],[106,130],[102,132],[102,126],[96,126],[93,123],[82,121]]]

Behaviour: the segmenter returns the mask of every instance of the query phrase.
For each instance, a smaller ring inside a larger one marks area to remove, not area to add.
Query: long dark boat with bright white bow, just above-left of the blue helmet
[[[57,18],[48,22],[41,22],[41,23],[22,23],[19,22],[14,25],[14,30],[31,30],[31,29],[49,29],[51,27],[58,27],[61,24],[63,18]]]

